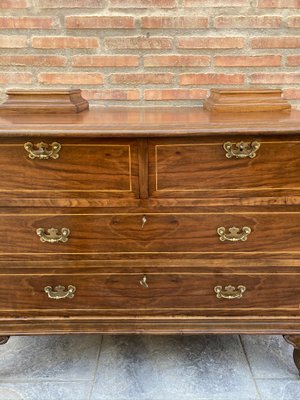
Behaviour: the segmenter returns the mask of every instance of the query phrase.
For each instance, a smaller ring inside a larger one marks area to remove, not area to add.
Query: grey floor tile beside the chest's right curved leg
[[[298,379],[293,346],[282,336],[242,335],[241,339],[255,378]]]

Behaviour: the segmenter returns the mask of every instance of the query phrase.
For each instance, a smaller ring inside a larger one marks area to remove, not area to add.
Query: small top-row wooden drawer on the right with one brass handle
[[[154,196],[247,197],[300,191],[300,141],[228,137],[156,139],[149,145]]]

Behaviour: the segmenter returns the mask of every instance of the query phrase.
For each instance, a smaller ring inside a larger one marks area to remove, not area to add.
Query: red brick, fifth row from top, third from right
[[[135,74],[112,74],[111,82],[123,85],[149,85],[172,83],[173,74],[171,73],[135,73]]]

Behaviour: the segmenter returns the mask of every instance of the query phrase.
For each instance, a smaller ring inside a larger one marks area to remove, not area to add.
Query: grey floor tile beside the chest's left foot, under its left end
[[[0,385],[12,380],[92,379],[100,343],[100,335],[11,337],[0,346]]]

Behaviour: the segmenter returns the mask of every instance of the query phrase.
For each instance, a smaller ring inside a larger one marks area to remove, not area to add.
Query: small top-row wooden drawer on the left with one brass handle
[[[0,194],[51,198],[74,193],[138,194],[135,141],[30,140],[0,143]]]

